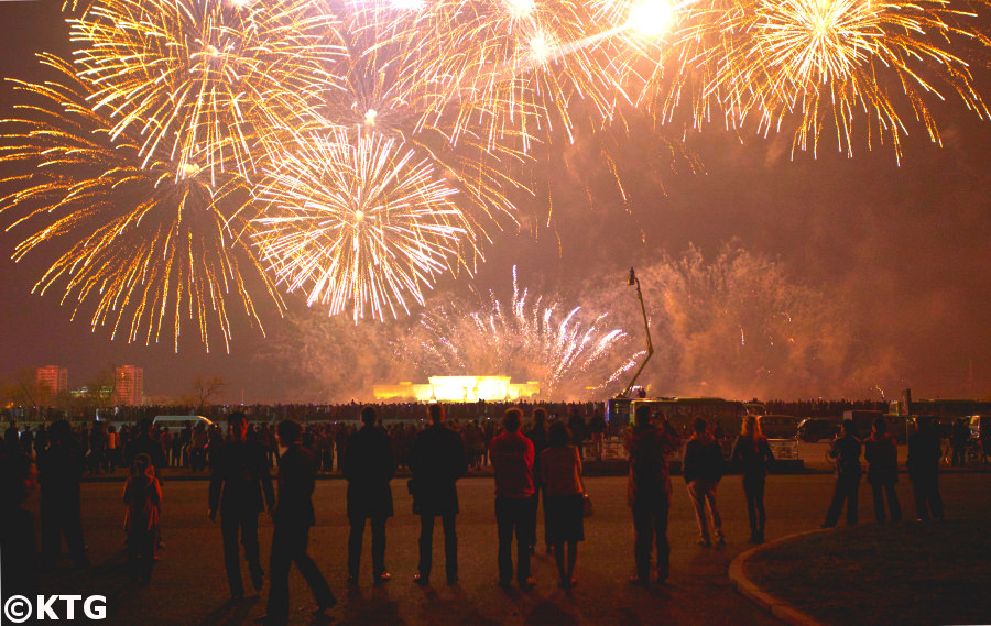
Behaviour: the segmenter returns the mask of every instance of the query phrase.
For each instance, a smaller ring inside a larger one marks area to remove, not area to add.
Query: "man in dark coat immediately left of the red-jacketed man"
[[[465,443],[444,424],[444,407],[429,406],[432,426],[416,436],[410,453],[413,471],[413,509],[420,514],[420,567],[413,581],[431,582],[434,550],[434,518],[444,525],[444,571],[447,584],[458,582],[458,479],[468,471]]]

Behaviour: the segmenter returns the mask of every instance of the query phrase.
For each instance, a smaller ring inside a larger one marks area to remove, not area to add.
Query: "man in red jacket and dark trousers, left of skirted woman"
[[[523,411],[507,409],[505,429],[492,439],[489,455],[496,470],[496,526],[499,534],[499,585],[513,580],[513,532],[516,535],[516,582],[521,591],[534,587],[530,576],[533,542],[533,442],[520,432]]]

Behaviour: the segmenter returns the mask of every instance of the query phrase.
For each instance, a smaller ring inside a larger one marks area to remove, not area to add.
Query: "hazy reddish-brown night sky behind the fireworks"
[[[31,78],[35,53],[70,50],[59,4],[0,1],[3,76]],[[991,92],[985,69],[976,69],[984,95]],[[0,91],[0,102],[7,117],[9,86]],[[555,162],[542,184],[549,184],[554,204],[551,228],[545,191],[544,200],[524,211],[519,232],[493,233],[487,263],[473,281],[446,277],[438,289],[459,297],[473,282],[476,289],[504,292],[515,265],[531,284],[582,304],[596,290],[589,276],[601,276],[602,290],[611,290],[624,283],[631,265],[650,265],[664,252],[677,257],[695,244],[712,255],[733,242],[778,260],[796,284],[842,294],[841,321],[857,329],[863,358],[885,355],[876,380],[841,387],[824,380],[819,395],[878,398],[871,391],[876,385],[890,396],[905,387],[915,397],[967,397],[971,389],[991,396],[991,124],[952,105],[935,109],[943,146],[913,127],[901,165],[887,146],[869,152],[863,142],[847,158],[828,138],[817,158],[798,153],[792,160],[789,134],[741,136],[714,124],[701,134],[689,131],[689,147],[701,163],[697,172],[653,160],[651,138],[623,151],[619,166],[629,195],[623,204],[614,187],[597,183],[606,178],[596,169],[601,163]],[[574,150],[580,146],[581,138]],[[576,180],[592,182],[590,197]],[[218,374],[229,382],[225,399],[230,402],[335,397],[333,388],[324,397],[290,391],[295,387],[292,369],[272,356],[279,350],[271,345],[284,322],[271,311],[262,312],[269,339],[237,322],[230,354],[222,348],[204,354],[195,341],[175,354],[168,341],[129,345],[110,341],[104,329],[90,331],[86,320],[69,319],[72,310],[59,306],[59,294],[30,294],[43,255],[9,261],[17,234],[0,233],[6,300],[0,375],[59,364],[69,369],[75,387],[101,369],[133,363],[144,367],[145,393],[152,396],[189,393],[195,375]],[[297,296],[286,300],[291,312],[305,308]],[[636,333],[640,322],[619,323]],[[650,371],[646,376],[652,391],[685,393],[665,389],[663,381],[650,380]],[[789,397],[787,389],[775,391]]]

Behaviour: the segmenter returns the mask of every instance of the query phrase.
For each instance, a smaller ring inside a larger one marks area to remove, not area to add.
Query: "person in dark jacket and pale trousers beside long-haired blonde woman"
[[[685,484],[688,486],[691,506],[695,508],[698,545],[705,548],[712,546],[706,515],[708,513],[708,517],[712,519],[712,536],[716,538],[716,545],[725,546],[722,519],[719,517],[719,507],[716,505],[716,491],[726,470],[722,462],[722,447],[709,435],[705,419],[696,418],[691,428],[695,432],[685,448],[682,472],[685,475]]]

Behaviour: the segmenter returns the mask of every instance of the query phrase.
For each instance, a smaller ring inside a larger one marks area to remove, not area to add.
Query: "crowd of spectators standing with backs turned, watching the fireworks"
[[[587,435],[576,436],[571,428],[574,425],[575,429],[588,429],[581,416],[576,413],[565,420],[548,416],[543,407],[534,407],[529,416],[530,427],[524,429],[523,409],[512,407],[504,411],[498,427],[492,425],[491,432],[487,432],[491,420],[484,425],[455,425],[446,420],[442,405],[429,405],[427,415],[426,427],[393,425],[385,429],[375,408],[368,406],[360,411],[360,428],[340,424],[304,428],[292,419],[283,419],[273,428],[251,424],[246,414],[233,411],[227,416],[226,436],[219,426],[199,431],[184,428],[173,436],[160,432],[151,420],[143,419],[134,427],[113,432],[117,437],[112,444],[110,430],[104,431],[99,424],[81,432],[58,420],[30,438],[8,439],[7,453],[0,458],[0,538],[4,553],[0,575],[4,591],[36,593],[40,576],[54,569],[61,558],[63,539],[74,564],[90,567],[83,540],[80,477],[87,470],[99,471],[109,457],[108,450],[116,450],[111,464],[120,462],[128,468],[122,498],[128,562],[135,579],[150,580],[162,541],[162,470],[174,463],[193,466],[196,453],[190,448],[197,447],[206,450],[203,463],[210,471],[208,513],[215,521],[219,516],[230,598],[238,602],[244,597],[240,545],[251,585],[261,591],[266,573],[270,579],[265,624],[283,625],[288,618],[292,564],[311,587],[318,612],[337,602],[318,565],[307,554],[308,532],[315,524],[315,477],[319,468],[329,469],[333,462],[348,482],[349,585],[359,584],[366,526],[371,528],[372,583],[384,584],[392,578],[385,565],[386,521],[394,515],[391,481],[400,464],[411,472],[406,488],[412,494],[413,512],[421,518],[414,582],[431,584],[433,535],[439,517],[445,579],[447,584],[457,584],[457,482],[472,463],[489,462],[496,486],[499,584],[509,587],[515,582],[523,592],[533,589],[530,560],[538,545],[537,512],[542,504],[544,549],[554,556],[559,586],[573,589],[578,583],[576,563],[578,546],[585,540],[584,518],[590,509],[580,452]],[[668,461],[682,449],[684,436],[665,415],[642,405],[636,408],[625,438],[628,504],[634,530],[631,583],[635,585],[663,582],[671,574],[667,524],[673,487]],[[182,444],[174,447],[176,440]],[[482,444],[476,444],[476,440]],[[87,442],[89,447],[85,448]],[[878,520],[885,521],[889,516],[892,521],[901,519],[893,490],[897,480],[894,446],[885,433],[883,419],[874,422],[871,437],[862,442],[856,437],[853,424],[845,422],[842,436],[830,448],[837,480],[824,526],[836,525],[845,503],[848,524],[858,521],[862,448],[867,449],[868,482]],[[100,448],[101,461],[88,461]],[[331,450],[333,454],[328,452]],[[276,454],[273,485],[271,468]],[[923,520],[943,517],[937,481],[939,458],[939,438],[932,421],[921,419],[918,431],[908,441],[908,475],[918,518]],[[712,436],[712,425],[701,418],[694,421],[684,446],[683,471],[699,546],[709,548],[714,542],[725,542],[717,493],[720,480],[730,469],[743,474],[750,542],[763,542],[764,482],[773,462],[758,416],[743,419],[728,460]],[[40,553],[34,541],[24,540],[34,536],[32,516],[23,504],[35,475],[41,482]],[[258,540],[258,517],[264,512],[272,515],[274,523],[268,572]]]

